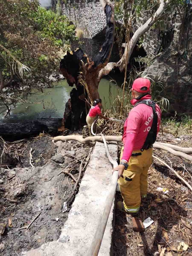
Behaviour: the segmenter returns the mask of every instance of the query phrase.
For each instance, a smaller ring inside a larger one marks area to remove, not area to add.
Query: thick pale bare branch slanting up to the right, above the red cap
[[[137,44],[137,41],[143,34],[145,34],[150,29],[150,27],[153,26],[153,24],[158,20],[161,14],[165,11],[169,3],[170,3],[170,0],[167,0],[166,2],[164,0],[160,1],[160,6],[158,10],[155,12],[154,16],[151,17],[149,20],[147,20],[145,24],[143,24],[140,28],[136,30],[133,37],[131,38],[131,41],[129,42],[129,44],[126,45],[124,54],[122,58],[119,60],[119,62],[108,63],[106,67],[101,69],[101,71],[99,72],[100,80],[102,76],[109,74],[114,67],[118,67],[121,72],[125,69],[125,63],[126,61],[129,62],[129,59],[131,57],[131,54],[134,50],[135,45]]]

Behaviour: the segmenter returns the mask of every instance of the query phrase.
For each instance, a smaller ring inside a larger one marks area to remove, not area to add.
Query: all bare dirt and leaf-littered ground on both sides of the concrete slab
[[[158,141],[192,146],[192,137],[184,135],[181,142],[171,134],[159,135]],[[17,159],[16,168],[0,168],[0,255],[22,255],[23,251],[40,247],[43,243],[57,240],[67,212],[62,212],[63,203],[72,192],[75,182],[66,170],[77,179],[82,157],[90,152],[90,147],[78,142],[52,143],[48,134],[31,140],[10,143],[10,152]],[[32,168],[29,163],[29,151],[32,150]],[[190,185],[192,179],[185,172],[184,165],[192,175],[190,162],[175,157],[163,150],[154,150],[157,156],[164,159],[178,171]],[[77,160],[74,162],[74,160]],[[174,173],[154,161],[149,170],[149,193],[142,201],[139,217],[144,221],[151,217],[154,221],[144,233],[132,231],[131,218],[116,210],[113,233],[113,256],[182,256],[192,255],[192,197],[191,191]],[[158,187],[167,188],[169,192],[157,191]],[[76,191],[76,193],[78,190]],[[75,194],[76,194],[75,193]],[[117,193],[116,200],[122,200]],[[39,214],[29,229],[26,227]],[[183,246],[184,245],[184,246]],[[186,247],[188,248],[186,249]],[[163,248],[166,248],[163,254]],[[186,251],[184,251],[186,249]],[[161,253],[161,254],[160,254]]]

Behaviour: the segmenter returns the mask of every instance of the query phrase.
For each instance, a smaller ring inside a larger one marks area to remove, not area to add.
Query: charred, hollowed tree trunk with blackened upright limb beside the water
[[[75,84],[76,89],[70,93],[64,113],[65,128],[79,129],[86,123],[86,101],[99,98],[99,72],[109,62],[114,41],[114,8],[109,0],[101,0],[107,20],[106,39],[99,53],[89,59],[81,49],[67,52],[60,62],[60,70],[69,86]]]

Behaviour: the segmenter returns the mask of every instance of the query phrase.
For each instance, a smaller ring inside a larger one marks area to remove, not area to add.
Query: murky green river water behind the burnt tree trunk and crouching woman
[[[99,95],[103,102],[104,108],[110,108],[111,103],[117,95],[122,96],[121,82],[118,85],[109,78],[101,79],[99,83]],[[70,98],[70,91],[73,87],[67,84],[67,80],[54,82],[54,87],[44,88],[43,93],[35,90],[29,95],[28,102],[40,102],[41,104],[25,103],[18,104],[16,108],[10,111],[10,119],[36,119],[36,118],[62,118],[65,110],[65,103]],[[44,102],[44,104],[43,104]],[[0,112],[2,112],[0,110]],[[5,120],[0,114],[0,120]],[[6,119],[9,119],[7,117]]]

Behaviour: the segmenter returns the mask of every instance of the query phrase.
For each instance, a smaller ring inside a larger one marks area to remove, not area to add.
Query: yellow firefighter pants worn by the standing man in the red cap
[[[150,148],[141,152],[138,156],[131,156],[128,169],[124,170],[123,177],[119,178],[119,188],[123,197],[125,210],[129,213],[137,213],[140,209],[141,197],[147,196],[147,176],[150,165],[152,164],[152,151]],[[123,156],[123,147],[120,160]]]

